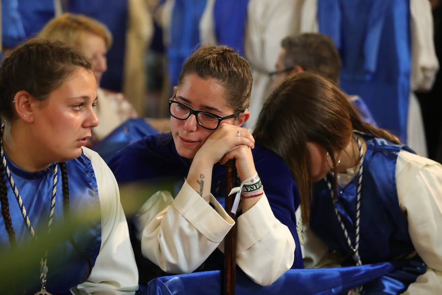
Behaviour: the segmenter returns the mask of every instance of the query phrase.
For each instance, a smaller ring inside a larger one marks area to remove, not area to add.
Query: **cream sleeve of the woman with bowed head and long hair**
[[[404,294],[442,294],[442,166],[402,150],[396,185],[414,248],[427,265]]]

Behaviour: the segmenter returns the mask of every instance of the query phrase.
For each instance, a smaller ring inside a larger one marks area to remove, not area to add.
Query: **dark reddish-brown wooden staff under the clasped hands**
[[[225,210],[235,221],[235,225],[230,229],[224,239],[224,295],[235,295],[235,274],[236,274],[236,214],[231,212],[235,194],[228,196],[230,190],[236,184],[235,159],[225,163],[226,189]]]

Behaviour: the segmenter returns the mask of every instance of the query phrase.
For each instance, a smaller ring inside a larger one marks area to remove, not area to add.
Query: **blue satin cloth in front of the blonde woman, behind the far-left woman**
[[[129,118],[115,128],[105,139],[92,147],[100,156],[109,162],[114,153],[137,140],[158,131],[143,118]]]

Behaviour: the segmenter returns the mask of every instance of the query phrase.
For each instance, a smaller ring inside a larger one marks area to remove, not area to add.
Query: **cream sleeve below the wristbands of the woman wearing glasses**
[[[268,286],[293,265],[295,240],[276,219],[264,194],[238,217],[236,264],[257,284]],[[219,246],[224,251],[224,243]]]

